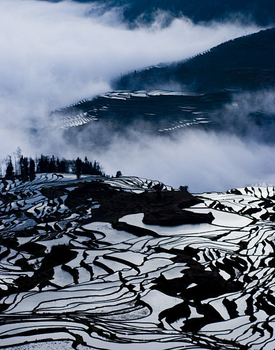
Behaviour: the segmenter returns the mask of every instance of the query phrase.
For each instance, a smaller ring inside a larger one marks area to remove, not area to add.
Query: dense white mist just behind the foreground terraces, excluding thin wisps
[[[275,145],[236,135],[187,130],[173,137],[118,137],[94,154],[105,171],[159,180],[192,193],[226,191],[258,182],[275,182]]]

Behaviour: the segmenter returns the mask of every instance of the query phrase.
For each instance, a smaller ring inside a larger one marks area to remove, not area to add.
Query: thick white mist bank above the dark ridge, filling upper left
[[[187,18],[161,28],[160,15],[150,27],[129,30],[114,9],[89,16],[99,6],[93,3],[1,0],[0,6],[0,156],[13,151],[15,137],[31,151],[25,127],[43,127],[51,110],[110,90],[120,73],[260,29],[237,21],[195,25]]]

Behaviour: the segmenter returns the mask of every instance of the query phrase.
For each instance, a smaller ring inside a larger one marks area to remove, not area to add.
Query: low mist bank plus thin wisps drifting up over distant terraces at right
[[[207,131],[189,126],[157,133],[155,117],[137,116],[128,126],[116,119],[93,121],[67,139],[74,138],[77,154],[93,155],[110,175],[121,170],[174,188],[188,185],[192,192],[226,191],[275,182],[274,110],[275,91],[260,89],[233,93],[209,115]]]

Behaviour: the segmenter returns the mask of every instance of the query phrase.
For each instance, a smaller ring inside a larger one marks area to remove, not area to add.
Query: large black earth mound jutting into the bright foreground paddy
[[[45,194],[45,191],[44,191]],[[87,182],[72,190],[65,201],[69,208],[89,205],[89,200],[100,203],[93,209],[93,221],[116,222],[125,215],[144,212],[144,222],[160,225],[211,222],[212,215],[181,210],[198,204],[201,199],[182,191],[144,191],[142,193],[117,190],[106,183]]]

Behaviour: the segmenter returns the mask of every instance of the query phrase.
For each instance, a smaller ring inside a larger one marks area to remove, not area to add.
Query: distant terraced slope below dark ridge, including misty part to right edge
[[[188,130],[273,143],[274,97],[269,95],[265,104],[262,97],[240,91],[112,91],[55,110],[51,125],[64,128],[65,139],[80,148],[108,145],[113,140],[110,134],[133,139],[135,132],[169,137]]]

